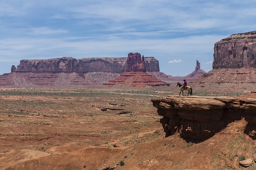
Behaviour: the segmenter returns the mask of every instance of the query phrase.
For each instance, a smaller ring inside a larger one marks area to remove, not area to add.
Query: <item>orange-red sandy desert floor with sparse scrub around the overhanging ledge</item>
[[[0,169],[243,169],[240,156],[256,153],[243,120],[191,147],[178,135],[164,138],[150,100],[176,93],[174,86],[2,88]]]

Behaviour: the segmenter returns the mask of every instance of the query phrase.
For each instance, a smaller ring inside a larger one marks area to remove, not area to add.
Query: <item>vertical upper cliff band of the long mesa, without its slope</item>
[[[159,71],[159,63],[154,57],[145,57],[145,69],[148,72]],[[88,73],[126,71],[127,58],[83,58],[62,57],[46,60],[21,60],[17,68],[13,65],[11,72],[35,73]]]

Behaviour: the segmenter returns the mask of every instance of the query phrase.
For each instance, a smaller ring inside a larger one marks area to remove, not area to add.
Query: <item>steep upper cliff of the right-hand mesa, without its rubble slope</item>
[[[214,45],[212,68],[256,67],[256,31],[232,34]]]

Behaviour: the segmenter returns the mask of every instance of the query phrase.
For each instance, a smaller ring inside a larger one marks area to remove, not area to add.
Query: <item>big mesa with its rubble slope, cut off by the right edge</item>
[[[212,68],[213,70],[190,82],[190,86],[204,92],[215,90],[241,93],[254,90],[256,31],[232,34],[215,43]]]

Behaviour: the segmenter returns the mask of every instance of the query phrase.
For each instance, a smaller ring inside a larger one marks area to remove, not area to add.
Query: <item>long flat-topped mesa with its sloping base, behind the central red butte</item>
[[[62,57],[45,60],[21,60],[11,73],[0,75],[1,87],[93,86],[114,80],[126,71],[127,57],[83,58]],[[159,72],[154,57],[144,58],[144,70]]]

